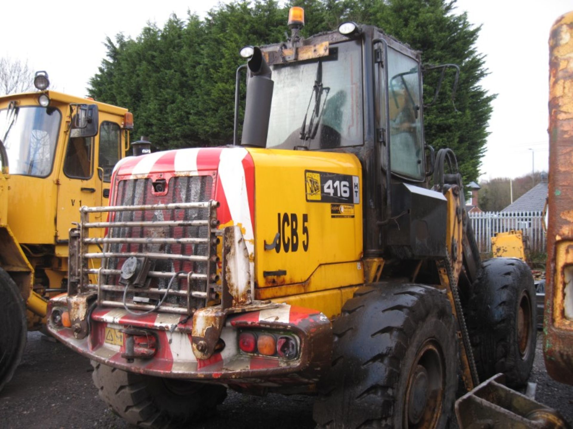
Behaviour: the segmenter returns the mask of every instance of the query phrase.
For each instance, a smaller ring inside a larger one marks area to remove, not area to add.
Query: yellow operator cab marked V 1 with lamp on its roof
[[[8,217],[19,242],[61,245],[63,255],[79,208],[107,204],[133,117],[127,109],[49,90],[46,72],[36,73],[34,85],[38,92],[0,97],[0,163],[12,190]]]

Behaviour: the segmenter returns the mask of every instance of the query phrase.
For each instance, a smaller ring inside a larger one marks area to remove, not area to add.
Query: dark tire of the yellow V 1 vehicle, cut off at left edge
[[[0,391],[10,381],[26,347],[26,306],[14,280],[0,268]]]

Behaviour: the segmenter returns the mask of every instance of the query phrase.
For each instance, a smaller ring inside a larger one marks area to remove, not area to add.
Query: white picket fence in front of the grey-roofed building
[[[470,213],[469,218],[474,234],[476,234],[477,247],[480,249],[480,253],[490,253],[492,251],[491,238],[496,233],[509,230],[523,231],[530,251],[545,252],[546,240],[541,211],[484,211]]]

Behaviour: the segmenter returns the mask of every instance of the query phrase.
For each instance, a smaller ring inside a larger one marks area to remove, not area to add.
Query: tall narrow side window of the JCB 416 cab
[[[423,179],[418,62],[388,48],[388,109],[392,172]]]

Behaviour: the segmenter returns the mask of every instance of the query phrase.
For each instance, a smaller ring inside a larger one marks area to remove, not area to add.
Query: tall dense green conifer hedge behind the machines
[[[291,6],[305,9],[304,36],[336,29],[343,21],[368,23],[420,50],[424,64],[460,65],[457,111],[449,73],[438,103],[425,110],[426,141],[435,149],[454,149],[465,183],[477,180],[494,95],[480,86],[488,73],[475,47],[480,27],[457,11],[455,1],[297,0],[281,6],[274,0],[236,0],[219,3],[204,19],[171,15],[163,28],[150,23],[135,40],[123,34],[107,38],[107,57],[89,82],[89,95],[129,108],[134,136],[150,137],[156,148],[228,144],[235,70],[244,63],[238,50],[284,41]],[[437,80],[437,72],[426,74],[426,101]]]

